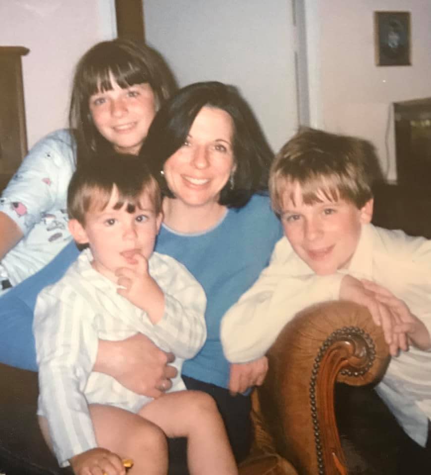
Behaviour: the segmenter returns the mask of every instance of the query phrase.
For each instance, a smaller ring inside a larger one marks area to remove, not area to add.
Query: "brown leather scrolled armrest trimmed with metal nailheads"
[[[381,329],[365,307],[325,302],[289,322],[268,358],[267,378],[254,394],[257,418],[267,430],[257,444],[265,452],[273,444],[301,475],[347,474],[334,386],[377,383],[382,377],[389,353]]]

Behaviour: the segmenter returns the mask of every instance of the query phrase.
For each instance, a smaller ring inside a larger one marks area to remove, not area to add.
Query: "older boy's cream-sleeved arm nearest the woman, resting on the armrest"
[[[223,316],[220,336],[226,358],[245,363],[265,355],[296,313],[315,303],[338,299],[341,274],[294,275],[295,255],[280,241],[258,281]],[[299,258],[297,258],[299,260]]]

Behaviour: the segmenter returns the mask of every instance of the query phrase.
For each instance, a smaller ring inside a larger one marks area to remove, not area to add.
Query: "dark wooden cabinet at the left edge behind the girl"
[[[27,153],[21,56],[19,46],[0,47],[0,190]]]

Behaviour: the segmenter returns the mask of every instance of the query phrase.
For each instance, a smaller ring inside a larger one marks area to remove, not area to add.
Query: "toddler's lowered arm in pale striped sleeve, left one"
[[[97,447],[83,394],[96,357],[97,335],[91,325],[74,318],[80,314],[87,316],[88,312],[81,299],[61,302],[47,290],[39,295],[35,309],[39,407],[47,417],[61,466],[74,455]],[[93,351],[86,351],[88,345]]]

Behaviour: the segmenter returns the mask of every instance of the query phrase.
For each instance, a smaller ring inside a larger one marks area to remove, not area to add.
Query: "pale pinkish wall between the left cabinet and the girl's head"
[[[67,125],[72,71],[79,57],[113,38],[113,0],[0,0],[0,45],[24,46],[29,147]]]

